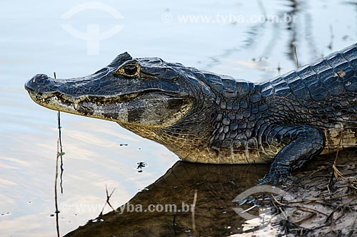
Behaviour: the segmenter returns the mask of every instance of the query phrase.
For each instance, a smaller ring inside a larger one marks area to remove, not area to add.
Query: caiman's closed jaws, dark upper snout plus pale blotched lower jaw
[[[177,85],[165,90],[157,80],[154,85],[98,73],[66,80],[38,74],[25,88],[34,102],[51,110],[146,127],[170,126],[192,107],[188,93]]]

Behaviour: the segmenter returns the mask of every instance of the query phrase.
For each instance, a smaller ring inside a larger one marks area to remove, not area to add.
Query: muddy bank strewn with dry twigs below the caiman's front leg
[[[357,152],[356,149],[311,162],[288,189],[295,197],[281,206],[287,218],[283,230],[301,236],[356,236]],[[318,165],[316,165],[318,164]],[[293,234],[289,236],[295,236]]]

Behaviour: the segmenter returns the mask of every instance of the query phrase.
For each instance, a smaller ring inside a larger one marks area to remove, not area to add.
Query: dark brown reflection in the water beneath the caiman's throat
[[[263,164],[248,167],[176,162],[163,177],[121,206],[119,212],[111,211],[103,216],[104,221],[89,221],[66,236],[228,236],[240,233],[241,224],[246,220],[233,211],[236,204],[232,200],[255,186],[267,171],[268,165]],[[195,192],[193,219],[188,205],[193,204]],[[151,204],[159,209],[175,204],[177,211],[145,211]]]

